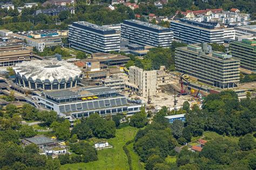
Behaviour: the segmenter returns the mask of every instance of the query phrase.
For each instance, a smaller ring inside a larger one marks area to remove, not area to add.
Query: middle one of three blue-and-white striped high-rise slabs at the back
[[[169,28],[135,19],[122,23],[121,37],[131,43],[155,47],[169,47],[173,42],[173,32]]]

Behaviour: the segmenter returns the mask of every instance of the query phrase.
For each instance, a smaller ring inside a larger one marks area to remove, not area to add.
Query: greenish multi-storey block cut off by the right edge
[[[230,51],[233,57],[240,59],[241,67],[256,72],[256,40],[242,39],[232,42]]]

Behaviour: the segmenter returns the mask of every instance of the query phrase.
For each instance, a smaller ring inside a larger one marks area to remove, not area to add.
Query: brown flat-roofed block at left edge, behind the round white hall
[[[12,66],[30,60],[33,47],[24,44],[0,45],[0,66]]]

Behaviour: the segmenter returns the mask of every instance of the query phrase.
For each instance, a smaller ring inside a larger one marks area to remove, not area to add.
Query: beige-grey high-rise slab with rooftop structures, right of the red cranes
[[[240,60],[211,49],[207,44],[176,48],[176,70],[220,89],[237,87],[240,79]]]

